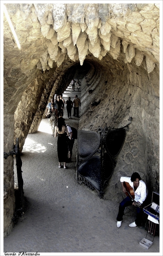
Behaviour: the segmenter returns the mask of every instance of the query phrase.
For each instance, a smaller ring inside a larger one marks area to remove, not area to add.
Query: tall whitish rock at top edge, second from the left
[[[58,32],[59,29],[65,27],[67,22],[66,17],[66,4],[65,3],[54,3],[53,4],[53,19],[54,19],[54,30]]]

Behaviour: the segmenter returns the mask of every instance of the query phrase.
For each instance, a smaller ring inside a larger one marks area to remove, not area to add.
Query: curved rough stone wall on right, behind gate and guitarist
[[[103,63],[90,59],[92,68],[82,81],[79,129],[119,128],[128,123],[129,116],[133,118],[106,194],[120,200],[120,176],[130,176],[135,171],[147,182],[150,191],[159,192],[158,68],[148,74],[143,63],[139,68],[133,61],[115,63],[108,54]]]

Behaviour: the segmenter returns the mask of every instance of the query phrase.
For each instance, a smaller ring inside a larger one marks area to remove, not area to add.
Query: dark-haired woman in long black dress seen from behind
[[[54,138],[57,137],[57,152],[58,152],[58,161],[59,168],[61,168],[61,162],[64,162],[64,169],[66,169],[66,162],[68,162],[68,143],[67,143],[67,132],[65,119],[63,117],[58,118],[58,124],[55,126]]]

